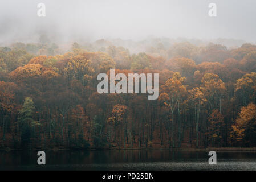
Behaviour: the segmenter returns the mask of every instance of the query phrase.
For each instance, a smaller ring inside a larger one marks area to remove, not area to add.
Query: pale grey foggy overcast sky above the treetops
[[[37,4],[46,5],[38,17]],[[209,17],[209,3],[217,17]],[[0,42],[35,40],[48,32],[62,40],[233,38],[256,42],[255,0],[1,0]]]

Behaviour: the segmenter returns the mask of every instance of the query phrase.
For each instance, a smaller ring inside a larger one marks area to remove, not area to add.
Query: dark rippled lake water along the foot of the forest
[[[256,152],[217,152],[209,165],[206,151],[46,151],[38,165],[36,151],[0,151],[0,170],[256,170]]]

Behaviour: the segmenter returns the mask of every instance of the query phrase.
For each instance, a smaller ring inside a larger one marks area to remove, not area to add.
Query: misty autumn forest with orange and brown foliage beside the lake
[[[0,47],[0,148],[256,147],[256,45],[147,45]],[[158,99],[99,94],[96,77],[111,68],[159,73]]]

